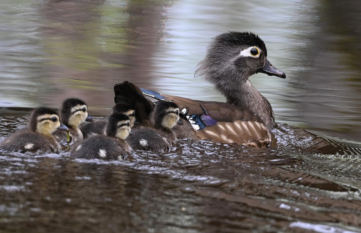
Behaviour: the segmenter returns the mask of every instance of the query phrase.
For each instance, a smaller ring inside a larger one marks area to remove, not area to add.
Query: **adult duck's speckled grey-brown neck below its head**
[[[218,89],[226,97],[227,103],[252,111],[269,130],[273,128],[275,122],[271,104],[248,79],[238,79],[238,85],[225,84]]]

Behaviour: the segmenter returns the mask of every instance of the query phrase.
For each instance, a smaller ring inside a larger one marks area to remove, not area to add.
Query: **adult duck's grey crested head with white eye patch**
[[[247,81],[258,72],[286,78],[283,71],[267,60],[266,45],[256,34],[229,31],[213,38],[196,76],[222,85],[225,79],[233,83]]]

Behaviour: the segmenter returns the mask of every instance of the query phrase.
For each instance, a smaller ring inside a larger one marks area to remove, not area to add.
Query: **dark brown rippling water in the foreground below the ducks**
[[[201,141],[112,162],[1,154],[0,229],[244,232],[301,221],[360,230],[359,166],[261,150]]]

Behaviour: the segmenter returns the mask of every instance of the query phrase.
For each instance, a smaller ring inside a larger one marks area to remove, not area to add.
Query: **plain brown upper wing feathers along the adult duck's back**
[[[261,120],[249,110],[233,104],[214,101],[191,100],[179,96],[162,95],[166,100],[171,100],[179,106],[180,109],[187,108],[189,115],[206,114],[218,122],[234,122],[235,120]]]

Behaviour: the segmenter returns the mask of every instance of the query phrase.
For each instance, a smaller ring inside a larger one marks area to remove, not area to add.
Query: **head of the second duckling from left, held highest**
[[[84,101],[78,98],[68,98],[64,100],[59,109],[60,119],[68,127],[78,127],[85,120],[92,119],[87,110],[88,106]]]

